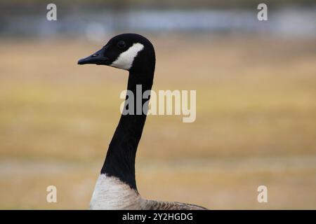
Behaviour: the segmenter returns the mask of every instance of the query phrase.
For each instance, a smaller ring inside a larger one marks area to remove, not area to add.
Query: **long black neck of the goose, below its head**
[[[137,104],[136,98],[138,97],[140,99],[141,97],[136,95],[136,87],[137,85],[141,85],[142,90],[141,92],[138,90],[137,94],[141,93],[143,96],[143,92],[146,90],[151,90],[153,76],[154,71],[130,71],[127,90],[133,92],[134,95],[134,114],[121,115],[119,125],[117,126],[117,130],[115,130],[114,136],[112,137],[104,165],[101,169],[101,174],[115,176],[121,181],[128,183],[129,186],[135,190],[137,190],[135,179],[136,151],[138,142],[142,136],[147,114],[147,108],[145,111],[142,110],[141,114],[136,113],[139,112],[139,110],[136,111],[137,106],[139,106],[139,102]],[[141,106],[143,108],[143,105],[148,99],[143,99],[143,97],[141,97],[141,99]],[[145,105],[147,106],[147,104]]]

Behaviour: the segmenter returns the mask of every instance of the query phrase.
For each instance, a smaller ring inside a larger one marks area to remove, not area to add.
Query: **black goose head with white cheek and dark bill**
[[[78,64],[102,64],[127,71],[154,71],[152,43],[139,34],[120,34]]]

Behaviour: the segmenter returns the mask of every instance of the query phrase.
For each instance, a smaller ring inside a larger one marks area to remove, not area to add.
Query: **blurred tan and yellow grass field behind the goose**
[[[150,116],[143,197],[209,209],[316,209],[315,39],[152,37],[154,90],[197,90],[197,120]],[[101,44],[0,41],[0,208],[87,209],[127,73],[78,66]],[[58,203],[46,202],[46,187]],[[268,203],[257,188],[268,187]]]

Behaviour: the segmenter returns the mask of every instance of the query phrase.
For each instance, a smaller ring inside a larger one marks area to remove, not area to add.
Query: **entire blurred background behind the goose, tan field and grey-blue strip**
[[[122,32],[154,44],[154,90],[197,90],[195,123],[147,118],[143,197],[316,209],[315,1],[53,1],[57,21],[48,3],[0,3],[0,209],[88,209],[128,75],[77,61]]]

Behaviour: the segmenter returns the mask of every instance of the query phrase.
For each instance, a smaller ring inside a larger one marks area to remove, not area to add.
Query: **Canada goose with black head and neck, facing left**
[[[80,59],[78,64],[103,64],[129,71],[127,90],[135,96],[136,85],[142,85],[142,92],[137,94],[143,95],[146,90],[151,90],[155,61],[154,47],[147,38],[138,34],[120,34],[110,39],[101,50]],[[96,182],[90,208],[205,209],[193,204],[157,202],[140,197],[136,187],[135,157],[148,109],[144,99],[141,106],[145,106],[145,111],[142,110],[140,115],[122,113]],[[136,101],[133,108],[136,111]]]

